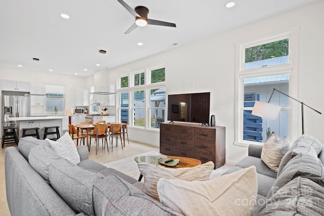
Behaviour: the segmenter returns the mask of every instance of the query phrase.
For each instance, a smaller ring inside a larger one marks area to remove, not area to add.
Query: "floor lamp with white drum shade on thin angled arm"
[[[286,95],[287,97],[301,103],[301,105],[302,105],[302,133],[303,134],[304,134],[304,105],[307,106],[308,108],[314,110],[315,112],[317,112],[319,114],[322,114],[319,111],[317,111],[317,110],[311,108],[310,106],[306,105],[305,103],[303,103],[303,102],[301,102],[301,101],[299,101],[299,100],[297,100],[295,98],[292,98],[289,95],[287,95],[285,93],[282,93],[282,92],[280,92],[280,91],[278,91],[276,89],[273,89],[268,103],[256,101],[256,103],[254,104],[252,113],[251,113],[252,115],[256,115],[256,116],[271,119],[271,120],[276,120],[277,119],[277,116],[279,115],[281,106],[278,106],[278,105],[275,105],[275,104],[269,104],[274,91],[277,91],[278,93],[281,93],[282,95]]]

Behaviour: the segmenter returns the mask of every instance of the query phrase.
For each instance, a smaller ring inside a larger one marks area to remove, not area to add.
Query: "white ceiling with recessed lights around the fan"
[[[177,27],[147,25],[124,34],[135,19],[117,0],[0,0],[0,65],[90,76],[316,0],[234,0],[230,9],[229,0],[124,1]]]

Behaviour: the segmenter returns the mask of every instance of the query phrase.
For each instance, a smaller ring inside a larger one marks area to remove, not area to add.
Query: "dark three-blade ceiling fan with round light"
[[[135,28],[137,28],[137,26],[146,26],[147,24],[177,27],[176,24],[174,23],[147,19],[148,8],[144,6],[137,6],[135,10],[133,10],[123,0],[117,0],[117,1],[135,17],[135,23],[125,32],[125,34],[131,33]]]

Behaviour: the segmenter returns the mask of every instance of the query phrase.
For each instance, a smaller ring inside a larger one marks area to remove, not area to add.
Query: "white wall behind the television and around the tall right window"
[[[299,100],[324,112],[324,85],[321,83],[324,80],[323,11],[324,2],[319,1],[193,44],[109,69],[107,80],[113,84],[116,83],[115,80],[119,75],[165,64],[167,94],[187,93],[192,90],[211,92],[211,114],[216,115],[216,122],[219,125],[226,126],[226,159],[228,162],[239,161],[247,156],[248,150],[246,147],[233,145],[235,141],[234,44],[272,36],[274,32],[300,28],[299,64],[294,74],[295,77],[299,77],[297,95]],[[297,125],[296,130],[299,128],[300,126]],[[315,136],[324,143],[323,128],[324,115],[305,108],[305,133]],[[129,134],[132,139],[157,146],[159,144],[159,133],[129,128]]]

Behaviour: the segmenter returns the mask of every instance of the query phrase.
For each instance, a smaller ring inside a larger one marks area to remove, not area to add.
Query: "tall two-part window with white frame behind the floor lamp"
[[[269,103],[281,106],[277,120],[254,116],[251,112],[255,101],[268,102],[274,88],[290,96],[296,94],[297,74],[291,75],[294,72],[292,47],[298,41],[297,37],[296,33],[288,32],[236,46],[236,64],[239,66],[235,71],[237,103],[234,144],[248,146],[265,142],[272,131],[278,137],[291,137],[292,116],[296,113],[292,112],[293,105],[287,96],[274,92],[271,97]]]

